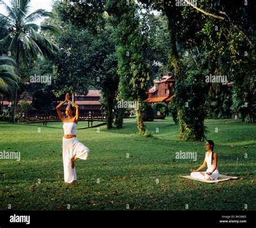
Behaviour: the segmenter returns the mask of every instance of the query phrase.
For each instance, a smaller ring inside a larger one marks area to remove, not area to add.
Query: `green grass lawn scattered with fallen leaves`
[[[65,184],[61,123],[0,122],[0,152],[21,152],[21,161],[0,160],[0,210],[9,204],[13,210],[245,210],[245,204],[254,210],[255,124],[231,119],[205,124],[220,174],[239,179],[208,184],[180,178],[201,165],[205,142],[180,141],[170,117],[146,123],[153,138],[139,137],[131,117],[119,130],[105,125],[77,130],[90,155],[76,161],[77,184]],[[197,152],[197,161],[176,159],[180,150]]]

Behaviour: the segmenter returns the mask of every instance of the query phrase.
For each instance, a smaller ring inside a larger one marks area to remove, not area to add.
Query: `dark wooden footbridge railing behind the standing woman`
[[[38,115],[38,116],[19,116],[19,123],[26,123],[26,124],[32,124],[32,123],[43,123],[43,125],[46,125],[48,122],[60,122],[62,121],[58,115]],[[88,127],[92,127],[93,121],[100,121],[100,122],[107,122],[106,116],[102,114],[84,114],[80,115],[79,121],[87,121]]]

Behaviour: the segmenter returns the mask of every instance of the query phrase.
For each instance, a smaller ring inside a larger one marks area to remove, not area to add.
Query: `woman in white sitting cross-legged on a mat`
[[[219,178],[219,171],[217,168],[217,154],[213,151],[214,143],[212,140],[208,140],[205,144],[205,148],[208,152],[205,153],[205,160],[197,170],[190,169],[191,176],[204,180],[217,180]],[[207,165],[206,173],[199,172]]]

